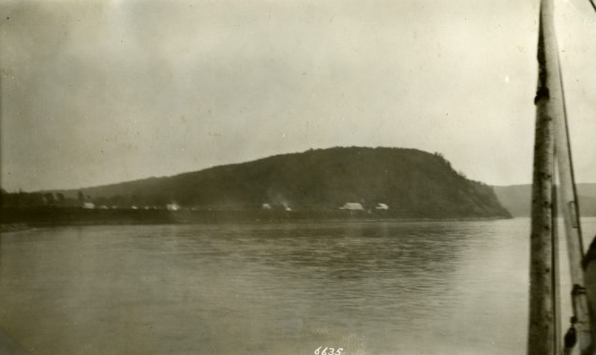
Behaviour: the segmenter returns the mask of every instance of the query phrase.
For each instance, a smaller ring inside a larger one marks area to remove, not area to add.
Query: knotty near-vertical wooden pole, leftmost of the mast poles
[[[554,355],[556,327],[553,274],[553,116],[556,114],[549,95],[549,75],[546,66],[548,31],[545,21],[552,16],[551,0],[542,0],[538,34],[538,85],[536,92],[536,129],[534,172],[532,177],[532,224],[530,231],[530,317],[528,355]],[[550,79],[550,80],[549,80]]]

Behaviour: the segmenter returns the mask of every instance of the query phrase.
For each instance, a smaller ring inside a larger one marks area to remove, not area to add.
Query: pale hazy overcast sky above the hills
[[[0,0],[0,184],[175,175],[334,146],[531,181],[539,1]],[[596,182],[596,13],[556,0],[578,182]]]

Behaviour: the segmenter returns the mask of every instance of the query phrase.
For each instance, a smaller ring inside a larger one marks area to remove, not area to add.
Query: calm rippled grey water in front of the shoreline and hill
[[[0,327],[40,355],[524,354],[528,233],[528,219],[9,233]]]

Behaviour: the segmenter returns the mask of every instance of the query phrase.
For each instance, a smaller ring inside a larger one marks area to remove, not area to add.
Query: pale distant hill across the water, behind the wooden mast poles
[[[503,207],[515,217],[530,216],[532,185],[510,185],[494,187],[495,194]],[[577,184],[579,212],[582,216],[596,217],[596,184]]]

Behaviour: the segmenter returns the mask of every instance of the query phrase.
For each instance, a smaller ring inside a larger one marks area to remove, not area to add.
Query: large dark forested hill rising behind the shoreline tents
[[[374,212],[382,203],[394,217],[509,217],[491,187],[457,173],[440,154],[399,148],[308,150],[82,193],[96,205],[140,208],[175,202],[198,210],[316,212],[359,203]]]

